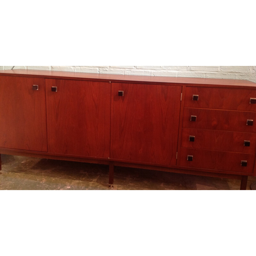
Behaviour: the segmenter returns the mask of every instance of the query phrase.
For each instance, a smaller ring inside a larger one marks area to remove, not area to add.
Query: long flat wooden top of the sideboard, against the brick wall
[[[215,79],[215,78],[195,78],[195,77],[167,77],[167,76],[131,76],[131,75],[112,75],[112,74],[93,74],[79,72],[14,69],[1,70],[0,75],[7,76],[29,76],[57,79],[74,79],[90,81],[111,81],[126,83],[165,83],[165,84],[196,84],[196,85],[222,85],[222,86],[249,86],[255,87],[256,83],[247,80],[235,79]]]

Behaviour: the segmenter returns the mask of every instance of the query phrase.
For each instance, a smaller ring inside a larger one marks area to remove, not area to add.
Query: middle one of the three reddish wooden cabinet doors
[[[48,152],[108,158],[111,84],[45,79],[45,86]]]

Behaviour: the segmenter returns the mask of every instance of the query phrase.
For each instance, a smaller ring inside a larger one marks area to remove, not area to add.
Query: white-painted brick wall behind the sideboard
[[[0,70],[11,68],[12,66],[0,66]],[[139,76],[242,79],[256,83],[256,66],[14,66],[13,69],[18,68]]]

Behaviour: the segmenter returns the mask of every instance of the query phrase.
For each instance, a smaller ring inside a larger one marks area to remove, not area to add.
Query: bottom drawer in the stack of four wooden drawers
[[[188,156],[193,156],[188,161]],[[241,166],[241,161],[247,161],[247,166]],[[253,173],[255,155],[230,153],[203,149],[181,148],[180,166],[194,167],[228,172]]]

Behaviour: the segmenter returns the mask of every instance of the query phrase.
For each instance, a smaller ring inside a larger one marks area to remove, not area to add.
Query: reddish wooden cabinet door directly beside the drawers
[[[176,165],[180,96],[181,86],[112,83],[110,157]]]

